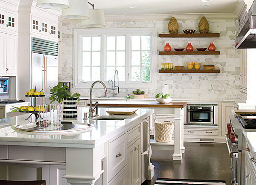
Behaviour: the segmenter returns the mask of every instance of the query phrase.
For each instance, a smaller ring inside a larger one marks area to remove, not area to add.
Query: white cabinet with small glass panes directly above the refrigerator
[[[31,32],[47,36],[49,38],[58,38],[58,27],[46,19],[41,19],[36,16],[31,16]]]

